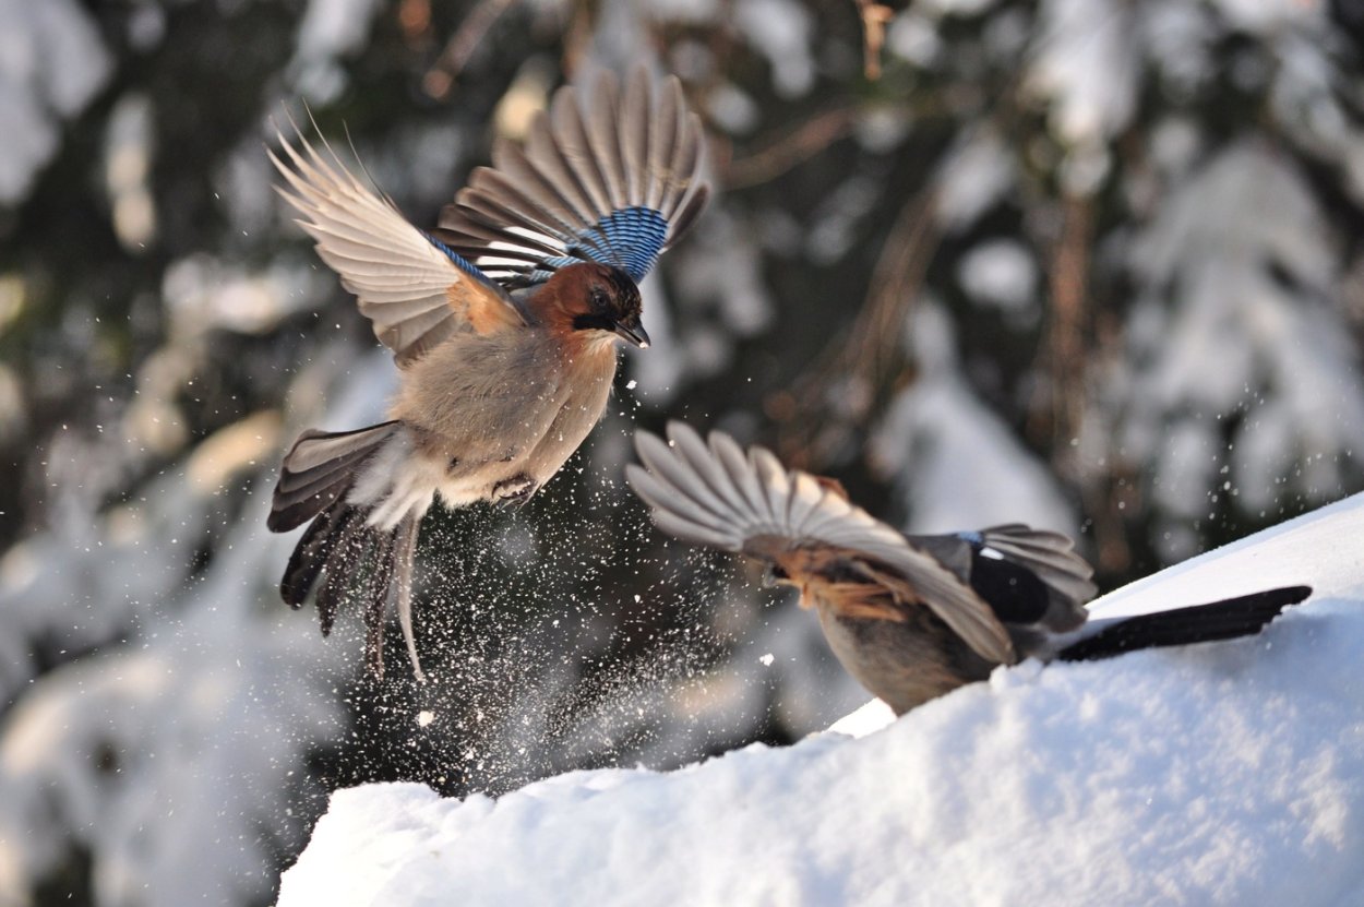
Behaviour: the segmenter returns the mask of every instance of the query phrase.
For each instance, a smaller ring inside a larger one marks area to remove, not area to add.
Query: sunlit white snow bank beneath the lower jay
[[[1364,495],[1095,606],[1315,588],[1252,640],[1026,663],[668,775],[338,791],[280,904],[1364,903],[1361,533]]]

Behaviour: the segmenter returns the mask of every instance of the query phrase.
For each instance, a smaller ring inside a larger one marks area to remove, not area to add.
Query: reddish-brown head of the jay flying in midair
[[[569,265],[555,271],[537,293],[550,323],[581,340],[619,337],[641,349],[649,336],[640,323],[640,288],[610,265]]]

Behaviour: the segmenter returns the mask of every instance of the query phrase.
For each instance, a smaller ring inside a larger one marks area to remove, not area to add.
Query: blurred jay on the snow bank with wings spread
[[[1024,657],[1101,659],[1157,645],[1259,631],[1311,589],[1290,586],[1157,614],[1087,621],[1093,570],[1057,532],[1012,524],[904,536],[829,479],[787,471],[762,447],[742,451],[682,423],[668,441],[636,434],[630,487],[660,529],[768,563],[801,591],[833,655],[903,715]]]

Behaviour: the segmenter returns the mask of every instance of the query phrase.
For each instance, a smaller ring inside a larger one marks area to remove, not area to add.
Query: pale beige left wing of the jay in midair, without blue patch
[[[289,184],[277,190],[303,214],[299,224],[316,240],[318,255],[356,295],[398,366],[457,331],[487,334],[525,323],[506,291],[487,274],[409,224],[330,149],[327,160],[295,132],[301,151],[278,134],[292,166],[270,151]]]

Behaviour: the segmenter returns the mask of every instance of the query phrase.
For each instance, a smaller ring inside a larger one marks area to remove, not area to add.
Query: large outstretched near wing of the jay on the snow
[[[648,471],[630,464],[630,487],[653,507],[660,529],[700,544],[772,559],[784,550],[828,547],[898,573],[915,595],[978,655],[1013,663],[1013,646],[994,612],[932,554],[854,506],[814,476],[787,471],[762,447],[747,456],[732,438],[709,445],[682,423],[668,441],[641,431],[636,449]]]

